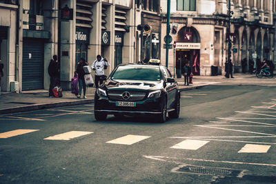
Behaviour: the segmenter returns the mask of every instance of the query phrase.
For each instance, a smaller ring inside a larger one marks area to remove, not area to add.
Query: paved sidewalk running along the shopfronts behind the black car
[[[235,79],[250,78],[252,75],[239,74]],[[227,80],[224,76],[195,76],[193,84],[184,86],[184,79],[176,79],[179,89],[193,90],[202,86],[216,83],[216,81]],[[215,80],[215,81],[214,81]],[[26,91],[23,93],[2,93],[0,95],[0,114],[14,112],[26,112],[31,110],[41,110],[45,108],[57,108],[70,105],[83,105],[94,103],[95,88],[88,88],[87,99],[77,99],[70,91],[63,91],[62,98],[49,98],[47,90]]]

